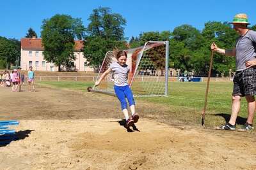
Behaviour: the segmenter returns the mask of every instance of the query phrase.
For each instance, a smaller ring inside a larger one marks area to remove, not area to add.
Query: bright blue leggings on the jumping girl
[[[133,94],[129,85],[125,85],[125,86],[114,85],[114,89],[116,92],[116,97],[119,99],[121,103],[122,110],[127,109],[127,103],[126,103],[125,97],[127,97],[127,100],[130,106],[135,105]]]

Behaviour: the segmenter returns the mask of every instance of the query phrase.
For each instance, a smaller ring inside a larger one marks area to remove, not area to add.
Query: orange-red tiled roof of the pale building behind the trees
[[[20,39],[22,50],[38,50],[43,51],[44,46],[42,46],[41,38],[21,38]],[[83,40],[75,40],[76,47],[75,50],[79,51],[83,49]]]

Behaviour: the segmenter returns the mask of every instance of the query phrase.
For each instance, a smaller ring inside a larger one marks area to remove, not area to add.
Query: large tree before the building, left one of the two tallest
[[[49,20],[43,20],[42,45],[44,45],[44,59],[54,62],[61,71],[61,66],[70,66],[76,60],[74,54],[75,38],[84,38],[84,27],[81,18],[70,15],[54,15]]]

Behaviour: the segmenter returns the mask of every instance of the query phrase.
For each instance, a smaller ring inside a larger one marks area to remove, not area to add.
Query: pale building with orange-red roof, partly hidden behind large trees
[[[42,46],[41,38],[21,38],[21,50],[20,50],[20,67],[23,70],[29,70],[29,66],[33,67],[33,70],[37,71],[59,71],[58,66],[55,66],[53,62],[47,62],[44,60],[44,46]],[[76,60],[74,60],[74,67],[70,71],[83,71],[93,72],[94,69],[88,66],[87,60],[84,58],[83,41],[75,40],[76,43]],[[63,67],[63,71],[67,71],[67,67]]]

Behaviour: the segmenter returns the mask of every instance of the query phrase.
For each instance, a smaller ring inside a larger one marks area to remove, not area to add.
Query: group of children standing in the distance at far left
[[[31,92],[31,85],[33,86],[33,91],[35,92],[34,85],[34,71],[33,67],[29,67],[28,75],[24,73],[20,74],[21,68],[13,69],[11,73],[9,71],[1,72],[1,86],[3,87],[12,87],[12,92],[20,92],[21,85],[24,85],[25,79],[28,80],[28,91]]]

